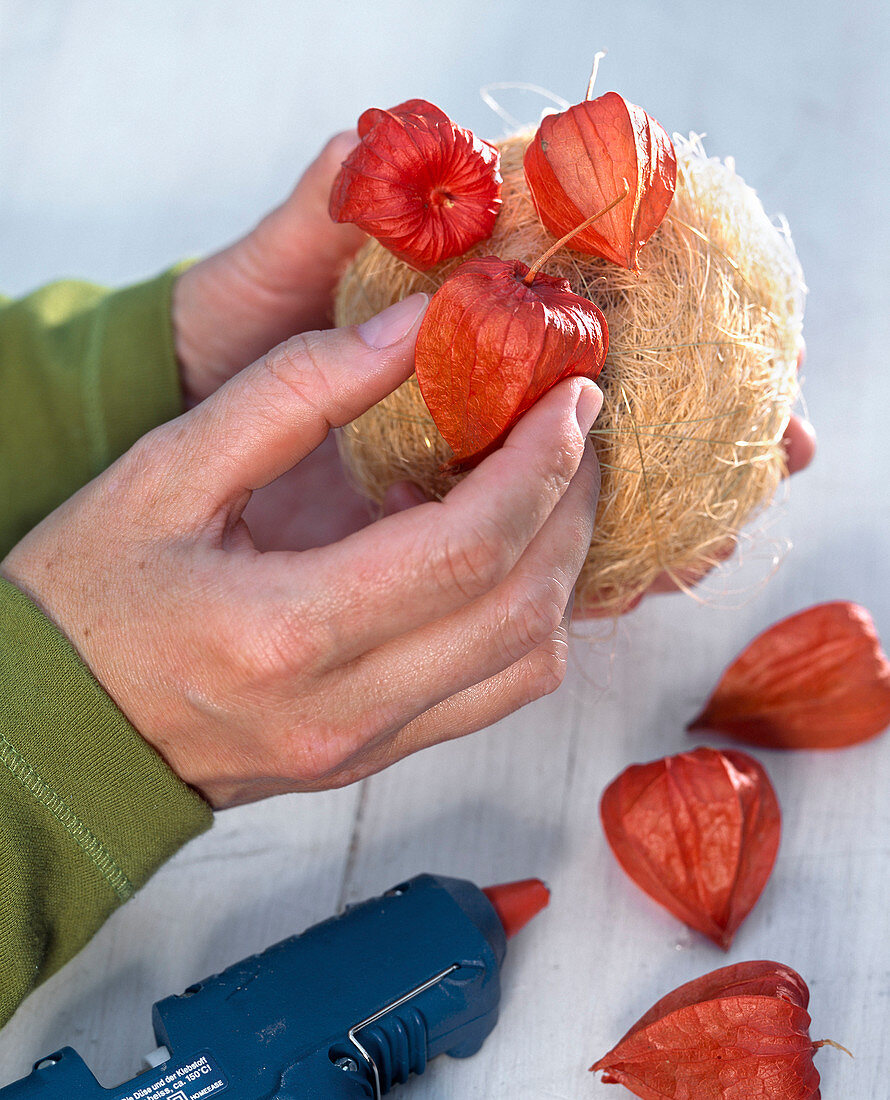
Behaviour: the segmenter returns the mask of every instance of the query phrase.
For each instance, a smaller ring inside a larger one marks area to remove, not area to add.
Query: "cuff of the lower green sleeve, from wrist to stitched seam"
[[[212,818],[209,805],[140,737],[64,635],[0,581],[3,772],[42,807],[47,843],[79,849],[78,864],[86,857],[118,901]]]

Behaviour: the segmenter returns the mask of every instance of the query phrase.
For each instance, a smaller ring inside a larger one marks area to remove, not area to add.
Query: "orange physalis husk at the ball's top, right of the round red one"
[[[545,117],[525,155],[528,189],[545,227],[562,237],[629,189],[629,199],[579,233],[572,248],[636,271],[677,184],[662,127],[615,91]]]

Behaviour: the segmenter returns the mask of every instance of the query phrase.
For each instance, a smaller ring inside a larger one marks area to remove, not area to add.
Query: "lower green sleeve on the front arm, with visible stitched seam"
[[[0,1025],[210,818],[0,580]]]

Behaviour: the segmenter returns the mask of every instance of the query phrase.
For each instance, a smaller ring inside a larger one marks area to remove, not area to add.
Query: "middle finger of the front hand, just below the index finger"
[[[552,639],[565,617],[593,534],[600,469],[587,447],[578,473],[508,576],[491,592],[331,673],[339,697],[402,726],[497,675]]]

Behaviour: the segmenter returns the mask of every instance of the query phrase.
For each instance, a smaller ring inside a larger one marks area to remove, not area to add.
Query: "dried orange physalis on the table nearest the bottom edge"
[[[642,1100],[818,1100],[813,1055],[838,1044],[810,1038],[809,1001],[780,963],[722,967],[663,997],[591,1069]]]

